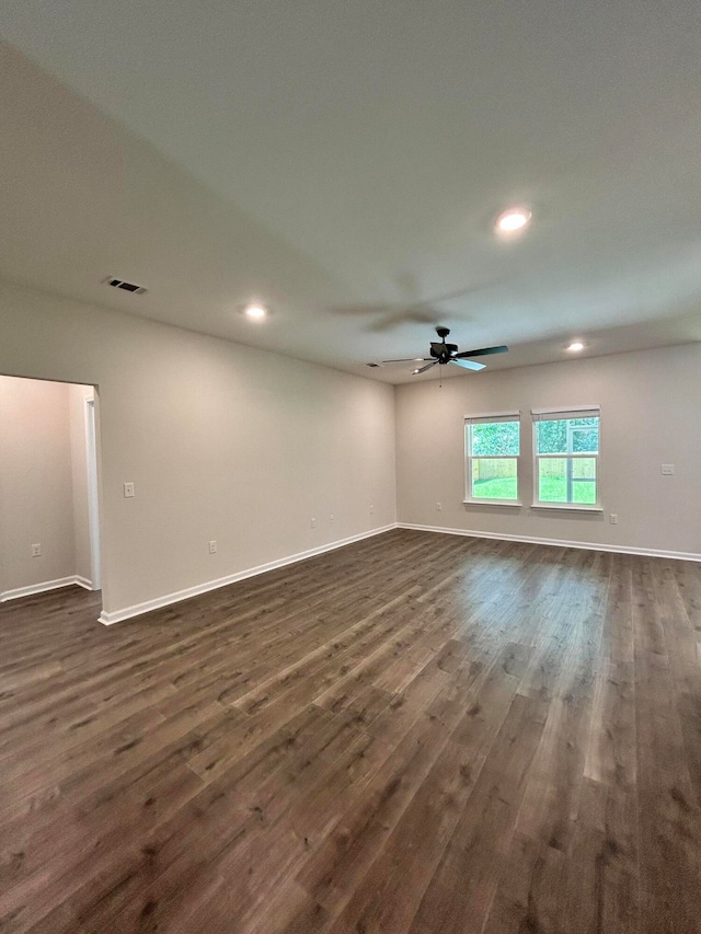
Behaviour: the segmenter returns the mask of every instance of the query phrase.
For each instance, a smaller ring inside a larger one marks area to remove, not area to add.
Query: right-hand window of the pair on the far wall
[[[533,412],[535,505],[599,508],[598,406]]]

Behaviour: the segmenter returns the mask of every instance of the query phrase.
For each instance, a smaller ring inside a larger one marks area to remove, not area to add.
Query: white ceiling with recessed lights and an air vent
[[[7,277],[390,382],[436,323],[490,368],[701,339],[698,0],[3,0],[0,34]]]

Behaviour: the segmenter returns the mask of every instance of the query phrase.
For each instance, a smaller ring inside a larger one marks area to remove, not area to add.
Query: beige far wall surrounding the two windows
[[[530,410],[579,404],[601,406],[605,514],[530,509]],[[522,508],[464,505],[463,417],[515,410]],[[699,555],[701,345],[399,387],[397,461],[400,522]],[[662,476],[662,463],[675,475]]]

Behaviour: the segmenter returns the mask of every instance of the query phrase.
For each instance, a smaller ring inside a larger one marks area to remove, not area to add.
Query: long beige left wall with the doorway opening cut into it
[[[0,372],[99,388],[107,613],[395,520],[391,387],[10,284],[0,331]]]

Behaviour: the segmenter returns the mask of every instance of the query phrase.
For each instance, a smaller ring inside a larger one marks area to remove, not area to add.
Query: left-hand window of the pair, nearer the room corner
[[[467,503],[518,505],[520,413],[464,419]]]

